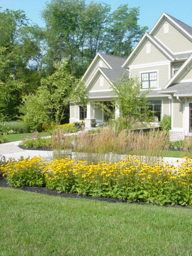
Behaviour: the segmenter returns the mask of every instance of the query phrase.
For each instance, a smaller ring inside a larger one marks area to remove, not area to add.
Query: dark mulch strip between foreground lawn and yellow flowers
[[[7,184],[6,180],[1,177],[0,177],[0,187],[12,188],[11,186],[9,186]],[[140,204],[140,205],[152,205],[152,206],[156,205],[156,206],[158,206],[157,204],[151,204],[149,202],[127,202],[127,201],[116,199],[116,198],[84,196],[84,195],[78,195],[77,193],[60,193],[60,194],[58,194],[58,192],[56,190],[49,190],[48,188],[44,188],[44,187],[22,186],[20,188],[12,188],[12,189],[23,190],[23,191],[27,191],[27,192],[34,192],[34,193],[38,193],[38,194],[45,194],[48,196],[60,196],[60,197],[64,197],[64,198],[67,198],[67,197],[68,198],[85,198],[85,199],[89,199],[89,200],[97,200],[97,201],[103,201],[103,202],[109,202],[109,203]],[[187,208],[187,209],[192,210],[192,208],[189,206],[180,206],[180,205],[172,206],[171,204],[166,204],[163,207]]]

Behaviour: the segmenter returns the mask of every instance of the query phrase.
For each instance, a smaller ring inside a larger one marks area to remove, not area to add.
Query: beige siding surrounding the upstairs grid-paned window
[[[158,70],[158,88],[162,88],[169,80],[169,69],[168,65],[156,66],[150,68],[136,68],[131,69],[130,73],[132,77],[138,76],[140,79],[140,72]]]

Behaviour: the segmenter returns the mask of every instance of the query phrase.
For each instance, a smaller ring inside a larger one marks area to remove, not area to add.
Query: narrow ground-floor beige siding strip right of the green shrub
[[[183,128],[183,104],[174,98],[173,105],[173,127]]]

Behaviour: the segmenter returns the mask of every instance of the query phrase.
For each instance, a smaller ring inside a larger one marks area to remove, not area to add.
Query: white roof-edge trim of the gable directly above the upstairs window
[[[134,50],[132,51],[132,53],[128,56],[128,58],[122,65],[123,68],[126,66],[127,62],[132,58],[132,56],[134,56],[134,54],[136,53],[138,48],[142,45],[142,42],[144,42],[145,39],[149,39],[154,45],[156,45],[156,47],[167,56],[167,58],[169,58],[172,61],[174,60],[174,55],[169,50],[167,50],[166,47],[164,47],[158,40],[156,40],[154,36],[150,35],[149,33],[145,33],[144,36],[136,45],[136,47],[134,48]]]

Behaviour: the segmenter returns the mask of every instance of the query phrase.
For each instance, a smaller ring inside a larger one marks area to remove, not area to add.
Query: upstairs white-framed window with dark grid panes
[[[157,88],[157,72],[141,74],[142,89]]]

